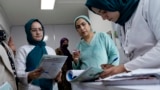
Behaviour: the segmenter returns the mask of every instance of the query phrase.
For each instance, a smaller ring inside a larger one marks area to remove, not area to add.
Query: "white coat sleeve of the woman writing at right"
[[[159,68],[160,67],[160,0],[149,0],[149,5],[146,10],[146,18],[150,30],[156,39],[155,46],[147,51],[144,55],[138,56],[124,66],[128,71],[137,68]]]

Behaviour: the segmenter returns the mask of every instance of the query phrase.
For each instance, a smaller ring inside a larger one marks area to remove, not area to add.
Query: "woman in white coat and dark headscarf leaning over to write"
[[[160,67],[160,0],[87,0],[86,6],[119,25],[124,65],[107,68],[101,77],[138,68]],[[105,67],[103,67],[105,68]]]

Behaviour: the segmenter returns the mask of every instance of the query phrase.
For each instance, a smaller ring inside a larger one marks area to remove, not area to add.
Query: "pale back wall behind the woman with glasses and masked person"
[[[70,51],[74,50],[77,43],[80,41],[80,37],[73,25],[44,25],[44,27],[45,34],[49,37],[46,44],[54,49],[60,46],[60,39],[62,37],[67,37],[69,39]],[[11,35],[17,49],[20,46],[27,44],[24,26],[12,27]]]

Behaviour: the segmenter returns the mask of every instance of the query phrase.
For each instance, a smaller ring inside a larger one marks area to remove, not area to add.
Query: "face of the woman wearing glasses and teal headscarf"
[[[33,22],[31,26],[31,34],[34,40],[41,41],[43,38],[43,29],[39,22]]]

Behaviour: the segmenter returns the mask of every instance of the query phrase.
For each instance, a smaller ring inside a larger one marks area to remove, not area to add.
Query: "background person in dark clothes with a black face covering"
[[[72,60],[73,60],[72,55],[70,51],[68,50],[68,46],[69,46],[69,40],[68,38],[64,37],[60,40],[60,47],[56,49],[57,55],[68,56],[66,62],[64,63],[62,67],[62,72],[59,73],[61,74],[61,77],[58,80],[59,90],[71,90],[71,84],[66,80],[66,72],[72,69]]]

